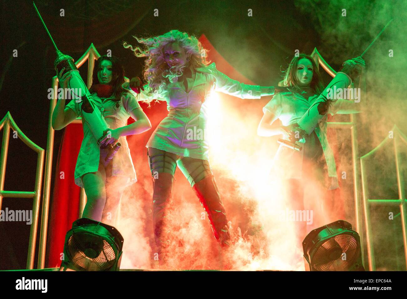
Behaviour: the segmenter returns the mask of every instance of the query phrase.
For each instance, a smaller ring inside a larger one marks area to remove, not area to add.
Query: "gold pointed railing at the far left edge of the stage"
[[[31,223],[30,229],[30,239],[28,243],[28,255],[27,255],[27,269],[32,269],[34,266],[34,255],[35,255],[35,242],[37,240],[37,229],[38,229],[38,214],[39,214],[39,204],[41,196],[41,185],[42,185],[42,168],[44,166],[44,149],[39,147],[37,144],[32,142],[15,124],[13,118],[11,117],[10,111],[7,112],[6,116],[0,122],[0,130],[4,128],[3,131],[3,141],[1,147],[0,156],[0,210],[2,207],[3,197],[11,198],[32,198],[33,199],[33,222]],[[9,140],[10,140],[10,128],[13,132],[17,133],[17,137],[22,140],[37,155],[37,170],[35,172],[35,190],[31,191],[5,191],[4,190],[4,178],[6,175],[6,164],[7,164],[7,154],[9,152]]]

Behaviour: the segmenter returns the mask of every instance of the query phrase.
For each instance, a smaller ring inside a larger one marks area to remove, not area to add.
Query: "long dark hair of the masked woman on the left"
[[[90,87],[89,91],[91,94],[94,93],[95,91],[92,87],[99,84],[98,71],[102,61],[104,60],[112,62],[112,81],[110,81],[109,85],[112,85],[114,101],[119,101],[121,94],[125,92],[125,89],[122,87],[122,84],[125,83],[125,70],[116,56],[108,57],[107,55],[103,55],[99,57],[99,59],[96,61],[95,67],[93,68],[92,86]]]

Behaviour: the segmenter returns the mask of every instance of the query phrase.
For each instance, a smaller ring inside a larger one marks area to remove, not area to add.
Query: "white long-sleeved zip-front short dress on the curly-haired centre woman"
[[[136,95],[139,101],[165,100],[168,116],[157,126],[147,147],[158,148],[183,157],[209,160],[209,145],[205,138],[188,138],[190,132],[203,132],[205,136],[208,107],[206,98],[212,90],[238,98],[259,99],[260,86],[247,85],[230,79],[216,69],[215,63],[197,68],[195,81],[189,92],[179,82],[169,83],[159,92],[149,94],[151,88]]]

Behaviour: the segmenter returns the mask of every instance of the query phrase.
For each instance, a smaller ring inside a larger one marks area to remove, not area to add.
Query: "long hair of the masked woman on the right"
[[[298,57],[293,57],[293,59],[291,59],[291,62],[288,65],[287,70],[285,71],[283,85],[285,87],[293,87],[293,89],[301,88],[299,84],[300,81],[298,80],[295,71],[297,70],[298,61],[300,61],[300,59],[302,58],[306,58],[311,61],[313,67],[313,76],[310,87],[315,94],[321,94],[324,91],[324,81],[322,80],[321,74],[319,73],[317,64],[310,55],[306,55],[303,53],[300,54]]]

